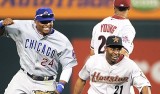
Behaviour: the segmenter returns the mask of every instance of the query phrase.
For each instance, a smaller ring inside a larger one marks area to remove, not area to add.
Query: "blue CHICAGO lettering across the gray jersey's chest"
[[[51,47],[47,47],[46,44],[38,42],[37,40],[26,39],[25,48],[34,49],[35,51],[49,56],[50,58],[53,58],[55,54],[55,50],[53,50]]]

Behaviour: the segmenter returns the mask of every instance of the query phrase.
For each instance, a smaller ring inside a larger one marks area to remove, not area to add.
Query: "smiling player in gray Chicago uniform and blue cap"
[[[66,36],[53,28],[50,8],[39,8],[34,20],[0,22],[0,35],[12,38],[17,46],[21,69],[4,94],[60,94],[72,74],[77,60]],[[56,82],[58,65],[62,65]]]

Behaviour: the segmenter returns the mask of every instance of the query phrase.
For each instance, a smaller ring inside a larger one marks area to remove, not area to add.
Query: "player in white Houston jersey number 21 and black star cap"
[[[136,63],[121,54],[122,39],[109,36],[105,54],[90,56],[79,72],[74,94],[81,94],[90,80],[88,94],[130,94],[134,85],[140,94],[151,94],[150,82]]]

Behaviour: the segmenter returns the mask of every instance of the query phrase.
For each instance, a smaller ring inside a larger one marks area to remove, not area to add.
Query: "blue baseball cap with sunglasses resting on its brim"
[[[38,21],[55,21],[54,14],[50,8],[39,8],[36,11],[35,20]]]

